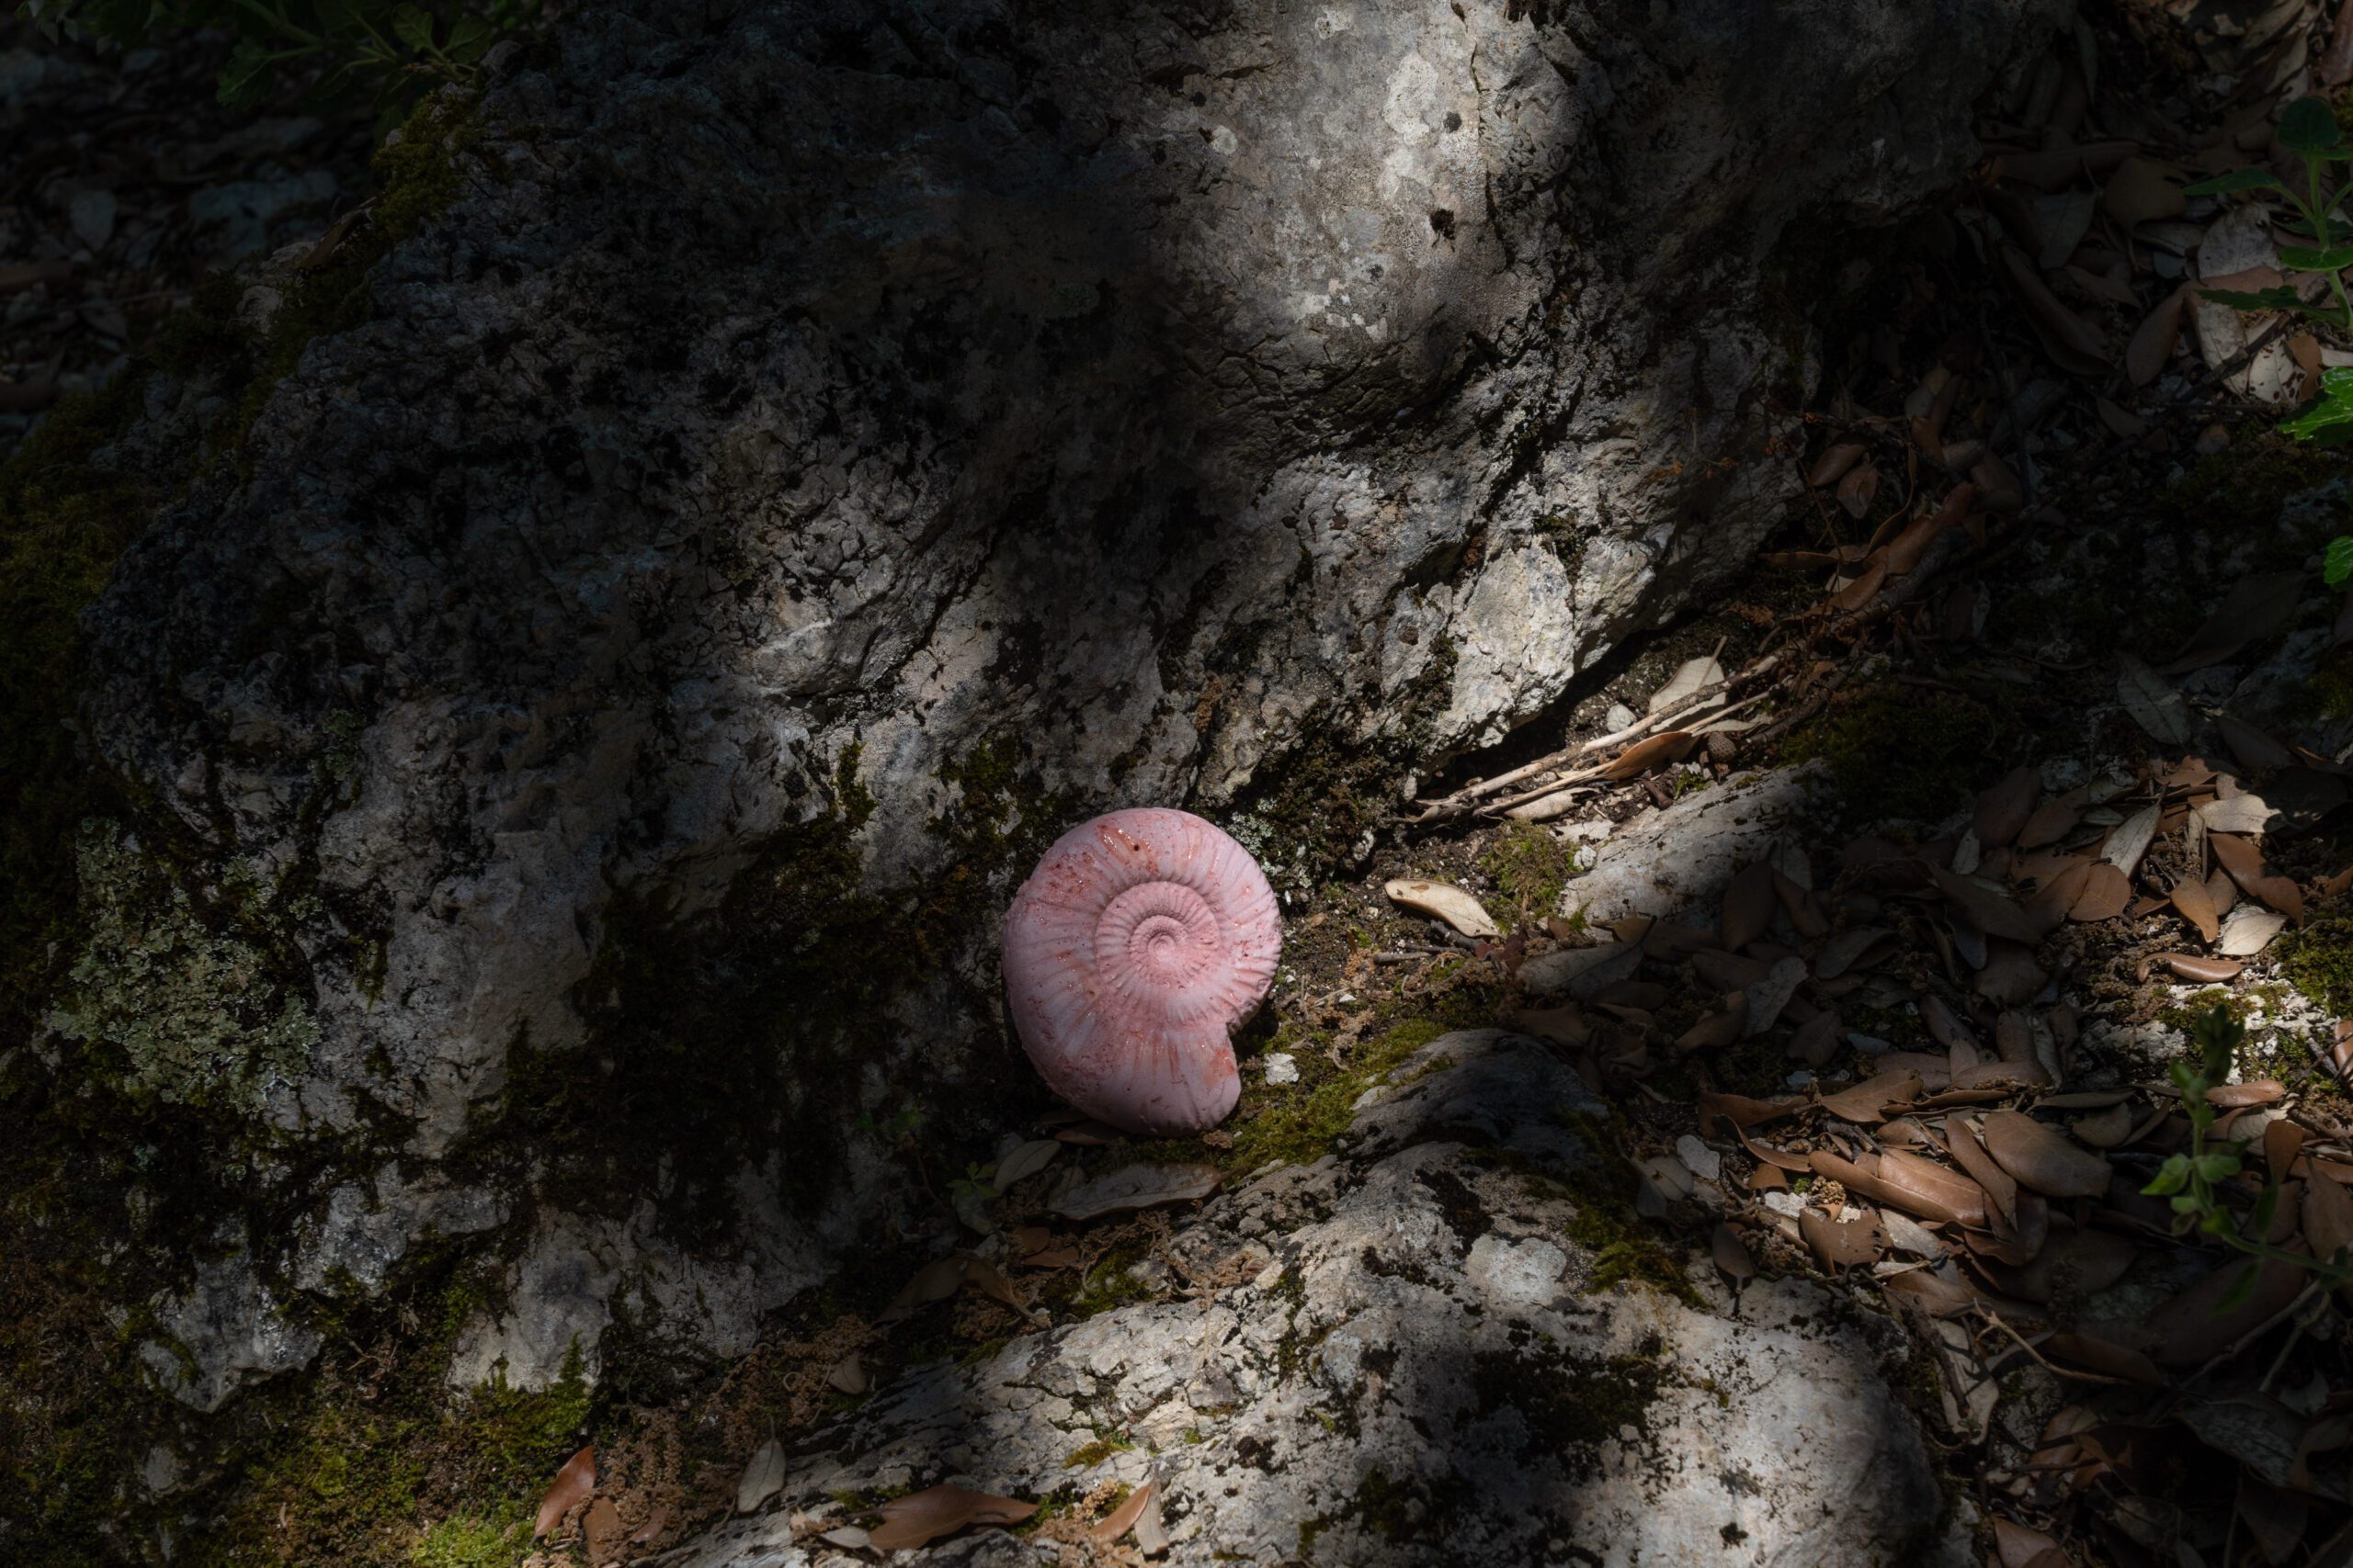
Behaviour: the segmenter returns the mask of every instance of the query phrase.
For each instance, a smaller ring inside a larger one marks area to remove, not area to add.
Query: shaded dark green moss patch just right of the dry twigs
[[[2005,755],[2002,726],[1955,691],[1880,684],[1788,741],[1791,762],[1821,759],[1861,820],[1934,820]]]

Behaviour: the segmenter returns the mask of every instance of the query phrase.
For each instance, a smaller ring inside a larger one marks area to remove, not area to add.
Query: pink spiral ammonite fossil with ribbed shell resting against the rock
[[[1217,1126],[1233,1027],[1275,978],[1282,919],[1249,851],[1188,811],[1082,823],[1005,914],[1005,990],[1038,1072],[1129,1133]]]

